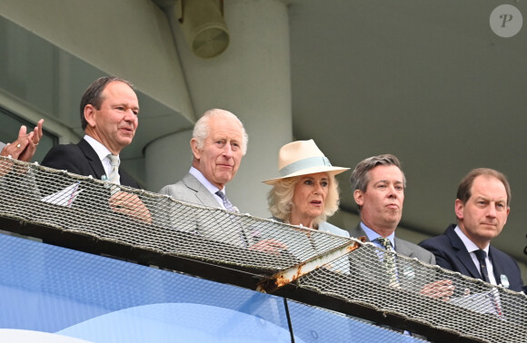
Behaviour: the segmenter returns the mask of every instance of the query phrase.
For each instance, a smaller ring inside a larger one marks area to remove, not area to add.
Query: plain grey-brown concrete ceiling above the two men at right
[[[504,172],[512,210],[493,244],[527,262],[527,28],[494,34],[489,18],[502,4],[292,1],[293,134],[313,138],[333,165],[397,155],[408,181],[402,225],[431,235],[454,221],[468,171]],[[349,176],[342,208],[356,212]]]

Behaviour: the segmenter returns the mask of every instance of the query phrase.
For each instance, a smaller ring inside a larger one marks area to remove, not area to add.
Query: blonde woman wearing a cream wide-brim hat
[[[280,177],[263,181],[273,186],[267,199],[274,220],[350,236],[325,221],[339,207],[335,175],[349,168],[333,167],[313,140],[283,145],[278,168]]]

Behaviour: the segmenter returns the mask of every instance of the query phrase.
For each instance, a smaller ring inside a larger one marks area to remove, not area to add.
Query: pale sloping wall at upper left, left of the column
[[[194,121],[170,27],[152,1],[2,0],[0,15]]]

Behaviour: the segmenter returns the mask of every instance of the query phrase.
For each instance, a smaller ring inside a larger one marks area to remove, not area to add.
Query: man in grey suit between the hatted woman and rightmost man
[[[392,154],[373,156],[359,162],[351,177],[353,199],[359,207],[361,222],[350,230],[352,237],[365,236],[383,250],[395,250],[410,258],[435,264],[433,254],[412,242],[395,237],[395,229],[403,215],[406,179],[401,162]],[[412,273],[410,273],[412,275]],[[403,283],[406,273],[398,273]],[[436,298],[453,293],[452,281],[443,279],[421,285],[421,293]]]

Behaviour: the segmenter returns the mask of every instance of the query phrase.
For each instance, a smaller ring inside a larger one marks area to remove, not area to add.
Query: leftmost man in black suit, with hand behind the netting
[[[56,145],[41,164],[139,188],[118,167],[119,153],[132,142],[138,125],[139,103],[132,84],[112,76],[95,80],[83,95],[80,112],[85,137],[77,144]],[[151,222],[149,211],[135,194],[113,192],[109,204],[114,211]]]

